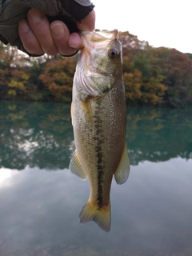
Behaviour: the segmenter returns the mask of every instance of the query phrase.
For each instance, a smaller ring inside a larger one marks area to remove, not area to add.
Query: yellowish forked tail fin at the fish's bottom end
[[[94,221],[102,230],[110,232],[110,202],[107,206],[98,208],[98,206],[94,206],[88,201],[82,207],[82,211],[79,214],[79,221],[81,223]]]

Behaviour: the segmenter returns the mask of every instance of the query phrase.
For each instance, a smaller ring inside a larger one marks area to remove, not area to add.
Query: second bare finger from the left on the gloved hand
[[[28,12],[27,18],[34,35],[42,47],[42,50],[46,54],[58,54],[58,49],[54,44],[54,39],[52,38],[52,34],[50,32],[50,23],[46,18],[46,15],[42,14],[38,10],[31,9]]]

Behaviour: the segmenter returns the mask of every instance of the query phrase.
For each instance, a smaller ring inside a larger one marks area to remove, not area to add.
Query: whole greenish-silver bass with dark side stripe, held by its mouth
[[[110,231],[110,186],[126,182],[130,158],[126,146],[126,98],[122,44],[118,30],[83,31],[71,102],[75,151],[70,171],[88,178],[90,197],[79,214]]]

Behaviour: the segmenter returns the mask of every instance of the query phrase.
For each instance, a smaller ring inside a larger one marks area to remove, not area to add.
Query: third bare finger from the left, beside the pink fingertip
[[[51,34],[54,38],[54,43],[58,48],[58,51],[62,55],[73,55],[77,52],[77,49],[69,45],[70,31],[67,26],[61,21],[54,21],[50,24]],[[79,37],[79,36],[78,36]],[[72,37],[73,38],[73,37]],[[79,40],[81,41],[80,37]],[[73,42],[73,40],[72,40]],[[82,42],[80,42],[82,43]],[[74,44],[75,46],[75,44]],[[76,45],[77,46],[77,45]]]

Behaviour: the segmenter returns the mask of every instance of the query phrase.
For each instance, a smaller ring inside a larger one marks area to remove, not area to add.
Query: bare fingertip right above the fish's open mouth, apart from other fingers
[[[93,31],[95,24],[95,12],[92,10],[90,14],[83,18],[81,22],[77,22],[78,30]]]

